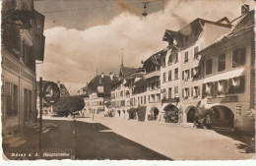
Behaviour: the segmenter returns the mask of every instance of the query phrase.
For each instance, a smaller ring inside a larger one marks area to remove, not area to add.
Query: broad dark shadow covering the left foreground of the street
[[[72,154],[75,151],[75,159],[80,160],[172,160],[146,146],[111,132],[111,129],[99,123],[79,121],[74,123],[61,120],[44,120],[43,123],[54,123],[57,128],[42,135],[42,151],[69,151]],[[5,150],[12,152],[21,151],[21,149],[22,151],[38,150],[38,134],[30,134],[25,138],[27,141],[19,147]]]

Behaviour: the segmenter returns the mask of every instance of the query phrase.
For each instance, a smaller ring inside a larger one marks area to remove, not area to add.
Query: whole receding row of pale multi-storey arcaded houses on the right
[[[118,76],[96,75],[78,91],[88,114],[111,112],[129,119],[131,108],[144,107],[145,121],[164,121],[169,111],[180,124],[194,123],[199,108],[212,108],[216,127],[254,131],[254,10],[213,22],[196,19],[178,31],[166,29],[167,47],[141,68],[120,67]],[[255,110],[255,109],[254,109]]]

